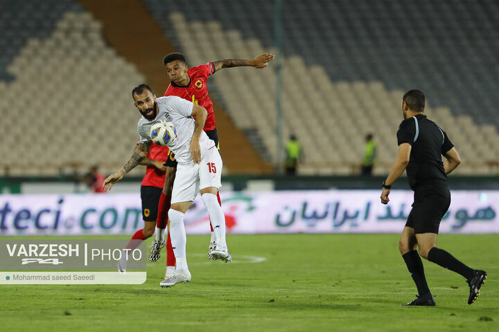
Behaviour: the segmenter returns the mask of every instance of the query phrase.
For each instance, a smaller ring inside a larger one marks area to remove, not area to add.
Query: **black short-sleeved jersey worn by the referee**
[[[399,145],[409,143],[412,146],[406,168],[412,190],[447,185],[441,156],[454,145],[437,123],[428,120],[423,114],[405,119],[397,131],[397,140]]]

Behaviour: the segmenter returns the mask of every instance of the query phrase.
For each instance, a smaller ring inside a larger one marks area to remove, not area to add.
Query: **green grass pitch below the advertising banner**
[[[234,263],[223,264],[207,259],[209,236],[189,236],[189,284],[160,288],[161,257],[142,285],[0,286],[0,330],[499,331],[499,234],[439,237],[440,248],[489,273],[471,306],[461,276],[424,260],[437,306],[399,306],[417,291],[398,240],[229,235]]]

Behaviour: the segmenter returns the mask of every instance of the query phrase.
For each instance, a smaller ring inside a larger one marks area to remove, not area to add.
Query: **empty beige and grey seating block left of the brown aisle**
[[[78,3],[2,5],[8,19],[0,21],[17,28],[0,37],[15,45],[0,57],[0,168],[10,176],[57,176],[80,164],[115,172],[138,139],[130,86],[143,76]]]

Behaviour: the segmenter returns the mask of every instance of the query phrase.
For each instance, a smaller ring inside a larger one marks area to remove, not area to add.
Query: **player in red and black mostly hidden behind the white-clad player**
[[[140,163],[140,165],[146,165],[146,175],[143,177],[141,183],[142,219],[144,221],[144,228],[137,230],[137,232],[133,234],[126,249],[133,250],[134,248],[137,248],[141,241],[148,239],[154,234],[157,207],[165,183],[166,169],[168,167],[176,167],[174,161],[175,158],[173,157],[173,154],[170,153],[168,147],[161,147],[160,145],[151,143],[147,157]],[[118,270],[120,273],[125,273],[125,259],[119,261]]]

